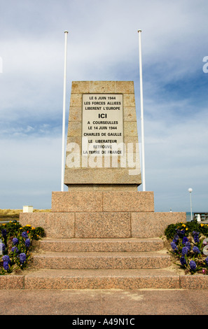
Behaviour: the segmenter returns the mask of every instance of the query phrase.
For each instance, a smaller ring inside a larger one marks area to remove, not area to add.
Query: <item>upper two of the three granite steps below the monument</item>
[[[39,244],[42,252],[34,255],[35,268],[155,269],[170,265],[169,255],[154,250],[155,244],[161,248],[160,240],[46,239]]]

